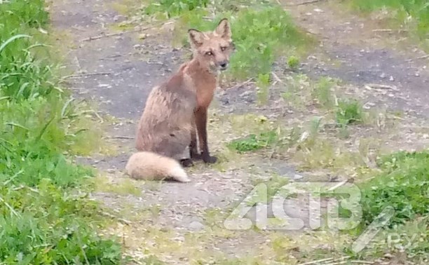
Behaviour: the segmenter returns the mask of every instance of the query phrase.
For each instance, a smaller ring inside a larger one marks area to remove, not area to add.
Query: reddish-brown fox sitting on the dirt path
[[[207,143],[207,111],[235,50],[231,35],[227,18],[213,31],[188,29],[192,57],[149,93],[137,125],[137,152],[125,165],[130,177],[190,182],[184,168],[193,161],[217,162]]]

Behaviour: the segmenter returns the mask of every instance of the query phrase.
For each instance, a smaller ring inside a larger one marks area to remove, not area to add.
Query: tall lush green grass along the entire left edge
[[[49,27],[45,8],[41,0],[0,4],[0,260],[117,264],[121,245],[97,234],[104,221],[81,185],[95,172],[72,160],[100,147],[100,130],[59,85],[39,32]]]

